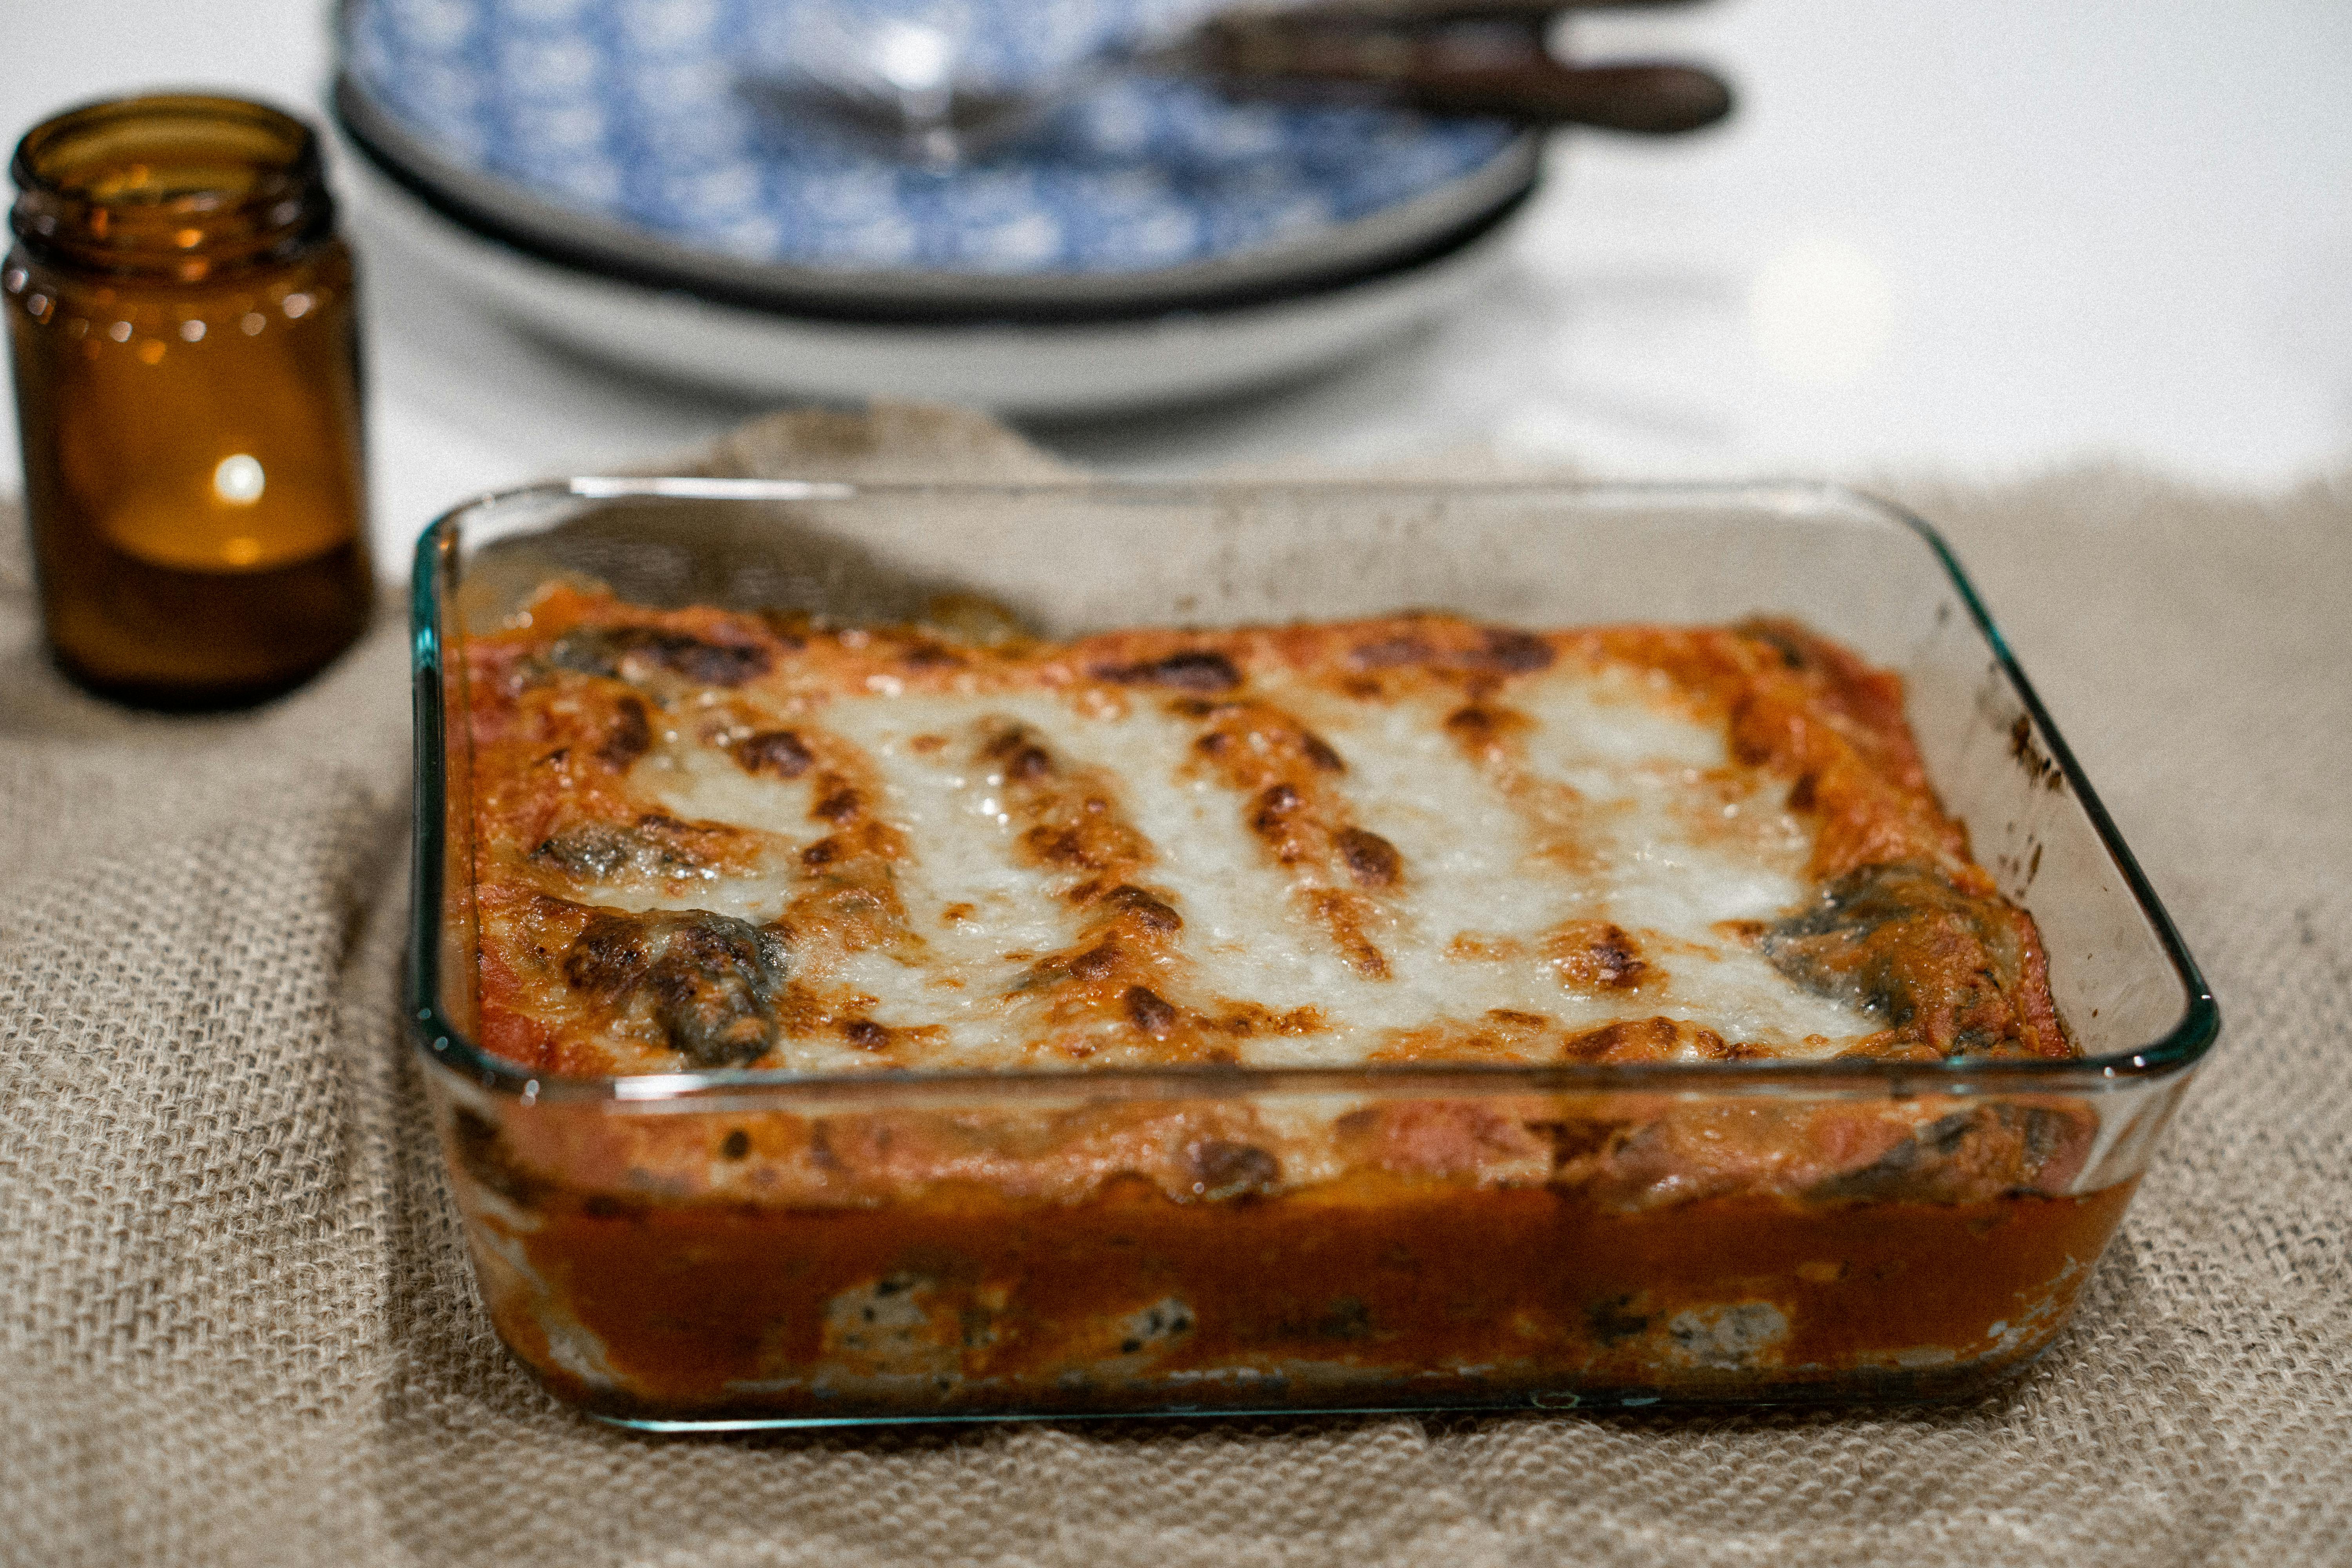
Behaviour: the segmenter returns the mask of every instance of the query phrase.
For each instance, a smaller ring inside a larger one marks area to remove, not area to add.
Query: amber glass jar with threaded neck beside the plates
[[[285,691],[367,625],[360,341],[318,136],[146,96],[16,148],[0,266],[49,646],[167,708]]]

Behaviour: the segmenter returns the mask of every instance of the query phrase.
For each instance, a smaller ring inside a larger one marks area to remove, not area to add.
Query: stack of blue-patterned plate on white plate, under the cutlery
[[[764,92],[811,5],[350,0],[336,120],[369,230],[503,315],[760,395],[1023,414],[1329,364],[1463,299],[1536,181],[1477,120],[1105,78],[953,169]],[[1181,0],[960,0],[1000,47]],[[1082,35],[1073,47],[1070,31]],[[1098,28],[1098,38],[1084,35]]]

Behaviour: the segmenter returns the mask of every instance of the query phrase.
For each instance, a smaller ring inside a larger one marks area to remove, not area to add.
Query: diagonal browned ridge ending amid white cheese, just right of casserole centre
[[[1301,910],[1367,980],[1390,976],[1374,933],[1404,893],[1404,858],[1378,832],[1355,823],[1334,780],[1345,759],[1296,715],[1263,698],[1169,703],[1200,724],[1197,766],[1237,792],[1265,856],[1289,872]]]

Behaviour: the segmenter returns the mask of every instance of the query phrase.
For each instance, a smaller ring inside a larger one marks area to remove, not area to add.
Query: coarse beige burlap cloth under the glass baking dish
[[[1035,473],[800,416],[722,465]],[[1964,1408],[647,1439],[492,1338],[397,1025],[405,637],[230,719],[42,663],[0,520],[9,1563],[2352,1561],[2352,484],[1907,487],[2227,1016],[2077,1328]]]

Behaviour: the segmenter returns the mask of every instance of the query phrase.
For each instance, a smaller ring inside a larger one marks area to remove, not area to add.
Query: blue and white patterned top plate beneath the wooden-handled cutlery
[[[1437,244],[1536,172],[1536,141],[1484,120],[1115,73],[931,172],[762,94],[823,73],[816,40],[917,5],[964,40],[960,75],[1023,87],[1164,38],[1204,0],[353,0],[339,113],[477,228],[851,313],[1298,287]]]

